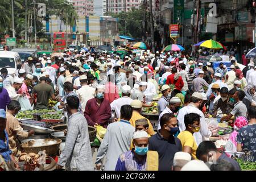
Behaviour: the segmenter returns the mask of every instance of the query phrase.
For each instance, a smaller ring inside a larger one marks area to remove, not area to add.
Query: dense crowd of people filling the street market
[[[58,168],[240,170],[209,141],[213,134],[206,121],[228,122],[234,131],[226,150],[247,148],[256,160],[256,67],[250,62],[241,69],[232,57],[230,70],[173,51],[123,56],[66,49],[61,56],[28,57],[15,77],[6,68],[0,71],[0,155],[19,167],[16,140],[34,131],[24,131],[15,115],[23,100],[33,109],[48,109],[53,100],[68,124]],[[154,125],[142,110],[159,96]],[[88,125],[106,129],[95,164]]]

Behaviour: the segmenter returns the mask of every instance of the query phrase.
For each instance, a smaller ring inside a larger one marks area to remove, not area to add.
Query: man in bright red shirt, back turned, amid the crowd
[[[184,86],[184,82],[182,80],[182,77],[180,76],[180,73],[177,73],[177,68],[172,68],[172,75],[169,75],[166,80],[166,84],[173,84],[175,85],[175,89],[181,90]]]

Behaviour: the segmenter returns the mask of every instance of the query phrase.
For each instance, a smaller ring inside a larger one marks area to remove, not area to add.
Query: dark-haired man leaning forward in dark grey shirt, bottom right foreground
[[[241,171],[241,168],[236,160],[229,158],[225,152],[221,154],[221,152],[217,150],[215,144],[210,141],[204,141],[199,144],[196,150],[196,158],[203,160],[208,164],[208,166],[214,163],[219,163],[221,159],[226,160],[234,166],[236,171]]]

